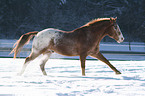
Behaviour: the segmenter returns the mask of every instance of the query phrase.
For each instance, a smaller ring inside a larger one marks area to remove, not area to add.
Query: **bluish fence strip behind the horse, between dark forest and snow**
[[[16,40],[0,40],[0,57],[13,57],[10,51],[13,49],[13,45]],[[30,54],[32,41],[25,45],[18,57],[27,57]],[[113,60],[145,60],[145,43],[141,42],[123,42],[123,43],[112,43],[112,42],[101,42],[100,51],[108,59]],[[68,57],[54,53],[51,58],[69,58],[79,59],[79,57]],[[87,57],[87,59],[93,59]]]

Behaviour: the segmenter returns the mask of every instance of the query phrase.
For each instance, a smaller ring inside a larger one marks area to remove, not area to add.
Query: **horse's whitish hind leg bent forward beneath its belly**
[[[43,75],[47,75],[44,67],[52,53],[53,53],[52,51],[46,51],[43,53],[43,57],[40,61],[40,69],[41,69]]]

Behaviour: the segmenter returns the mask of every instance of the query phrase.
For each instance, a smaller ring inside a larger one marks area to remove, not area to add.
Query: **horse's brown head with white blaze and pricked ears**
[[[109,37],[115,39],[118,43],[121,43],[124,41],[124,37],[121,33],[121,30],[120,30],[118,24],[116,23],[116,19],[117,19],[117,17],[116,18],[110,17],[111,26],[109,26],[106,29],[106,32]]]

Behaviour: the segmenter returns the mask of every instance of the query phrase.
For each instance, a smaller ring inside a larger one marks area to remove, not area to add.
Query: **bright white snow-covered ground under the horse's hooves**
[[[17,76],[24,59],[0,58],[0,96],[145,96],[145,61],[110,61],[122,72],[115,75],[101,61],[87,60],[86,76],[79,60],[50,59],[48,76],[37,62]]]

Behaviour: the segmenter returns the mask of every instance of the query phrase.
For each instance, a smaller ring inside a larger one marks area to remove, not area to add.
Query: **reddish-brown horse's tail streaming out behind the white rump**
[[[28,32],[26,34],[23,34],[20,39],[14,44],[15,48],[10,52],[10,54],[12,54],[14,52],[14,58],[16,58],[18,52],[20,51],[20,49],[30,41],[30,39],[36,35],[38,33],[38,31],[34,31],[34,32]]]

